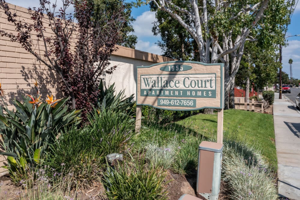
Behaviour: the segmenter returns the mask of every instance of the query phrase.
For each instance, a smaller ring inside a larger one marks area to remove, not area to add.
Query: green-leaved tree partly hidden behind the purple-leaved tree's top
[[[110,18],[116,12],[120,12],[122,10],[122,15],[124,16],[124,20],[120,23],[122,25],[120,40],[116,43],[121,46],[125,46],[128,48],[135,48],[137,43],[137,36],[130,34],[134,32],[134,28],[132,26],[132,22],[135,19],[131,16],[131,8],[133,6],[132,2],[125,2],[124,0],[94,0],[94,21],[104,21],[103,17]],[[105,12],[105,16],[103,13]]]

